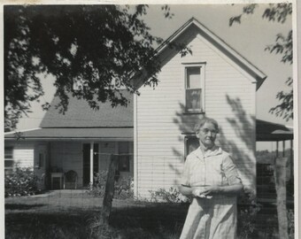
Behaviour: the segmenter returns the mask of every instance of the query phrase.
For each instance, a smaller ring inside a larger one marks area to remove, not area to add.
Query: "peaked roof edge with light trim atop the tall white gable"
[[[212,42],[214,46],[220,49],[222,52],[227,54],[238,66],[241,66],[244,71],[250,73],[257,81],[257,89],[261,86],[263,81],[266,79],[266,74],[261,72],[259,68],[252,65],[250,61],[234,50],[226,42],[224,42],[219,36],[212,33],[207,27],[200,23],[197,19],[189,19],[183,26],[181,26],[177,31],[174,32],[165,42],[163,42],[156,50],[160,54],[163,50],[168,48],[169,42],[174,42],[180,35],[182,35],[189,27],[197,27],[200,34],[203,35],[209,42]]]

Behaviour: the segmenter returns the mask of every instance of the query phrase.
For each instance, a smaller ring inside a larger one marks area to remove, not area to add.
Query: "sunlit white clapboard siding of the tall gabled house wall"
[[[150,197],[150,190],[178,184],[184,162],[183,131],[193,127],[196,115],[185,115],[182,63],[205,62],[205,114],[218,120],[218,143],[228,150],[246,187],[255,188],[254,79],[202,36],[190,37],[193,54],[166,55],[158,87],[139,89],[135,109],[135,194]],[[186,65],[187,66],[187,65]]]

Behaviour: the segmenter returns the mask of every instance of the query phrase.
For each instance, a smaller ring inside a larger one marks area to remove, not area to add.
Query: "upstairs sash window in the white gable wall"
[[[186,112],[204,112],[205,67],[185,67]]]

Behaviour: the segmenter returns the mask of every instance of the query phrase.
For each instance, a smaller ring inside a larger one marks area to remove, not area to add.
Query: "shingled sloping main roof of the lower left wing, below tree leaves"
[[[99,104],[99,110],[89,107],[84,99],[69,97],[69,104],[65,114],[59,113],[56,105],[58,97],[54,97],[51,107],[42,119],[40,127],[134,127],[133,95],[122,90],[129,104],[112,108],[111,102]]]

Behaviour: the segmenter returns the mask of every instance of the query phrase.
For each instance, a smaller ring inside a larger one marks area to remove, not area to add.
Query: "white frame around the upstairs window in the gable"
[[[197,63],[182,63],[183,66],[183,75],[184,75],[184,105],[185,105],[185,113],[193,114],[193,113],[204,113],[205,112],[205,62],[197,62]],[[186,97],[187,97],[187,80],[188,80],[188,68],[197,67],[200,69],[200,89],[201,89],[201,103],[200,110],[192,110],[188,109]]]

